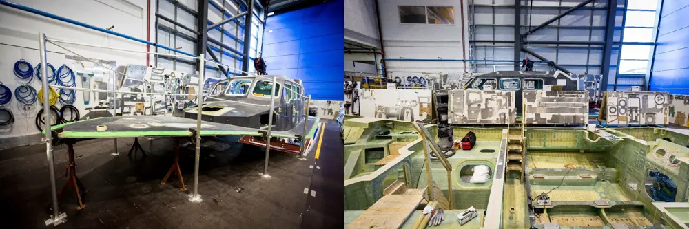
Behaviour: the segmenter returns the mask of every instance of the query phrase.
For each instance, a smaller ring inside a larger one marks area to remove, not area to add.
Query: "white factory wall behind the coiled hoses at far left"
[[[147,2],[145,0],[26,0],[19,3],[23,6],[50,12],[100,28],[114,26],[112,30],[115,32],[139,39],[146,39]],[[152,8],[154,6],[155,1],[152,1]],[[86,8],[90,10],[84,10]],[[154,12],[155,10],[152,10],[152,13]],[[146,50],[146,45],[136,41],[122,39],[118,36],[96,32],[6,6],[0,6],[0,21],[2,22],[0,23],[0,81],[12,91],[21,84],[13,74],[14,63],[20,59],[28,61],[33,66],[40,63],[38,51],[39,32],[44,32],[46,36],[52,39],[63,41],[119,47],[129,50]],[[155,33],[152,32],[151,39],[154,40],[154,37]],[[146,65],[145,54],[132,54],[68,44],[62,44],[62,46],[87,58],[116,61],[117,65]],[[93,63],[89,62],[83,62],[84,66],[82,67],[81,64],[67,57],[74,56],[74,54],[60,47],[50,43],[47,47],[48,63],[54,65],[55,68],[64,64],[68,65],[76,73],[83,70],[83,67],[94,67]],[[37,91],[41,89],[41,83],[35,77],[30,86]],[[80,87],[80,85],[77,84],[77,87]],[[85,105],[83,104],[82,94],[81,92],[76,92],[76,94],[74,105],[83,114],[85,113]],[[10,109],[14,113],[15,120],[13,124],[0,127],[0,149],[40,142],[39,130],[34,124],[35,116],[39,111],[38,102],[34,104],[32,111],[25,114],[18,111],[17,103],[13,96],[12,102],[6,106],[6,109]],[[60,107],[59,102],[57,107]]]

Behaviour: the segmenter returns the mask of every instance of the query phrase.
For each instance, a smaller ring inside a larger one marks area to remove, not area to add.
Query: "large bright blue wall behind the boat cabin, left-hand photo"
[[[268,74],[301,79],[315,100],[345,100],[345,1],[268,17],[263,34]]]

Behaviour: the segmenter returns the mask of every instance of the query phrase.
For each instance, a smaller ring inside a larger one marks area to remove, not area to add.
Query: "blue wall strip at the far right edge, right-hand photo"
[[[664,0],[649,90],[689,94],[689,1]]]

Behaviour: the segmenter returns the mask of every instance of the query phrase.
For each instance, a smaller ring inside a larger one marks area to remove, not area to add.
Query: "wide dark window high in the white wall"
[[[455,24],[455,8],[451,6],[399,6],[398,10],[404,24]]]

